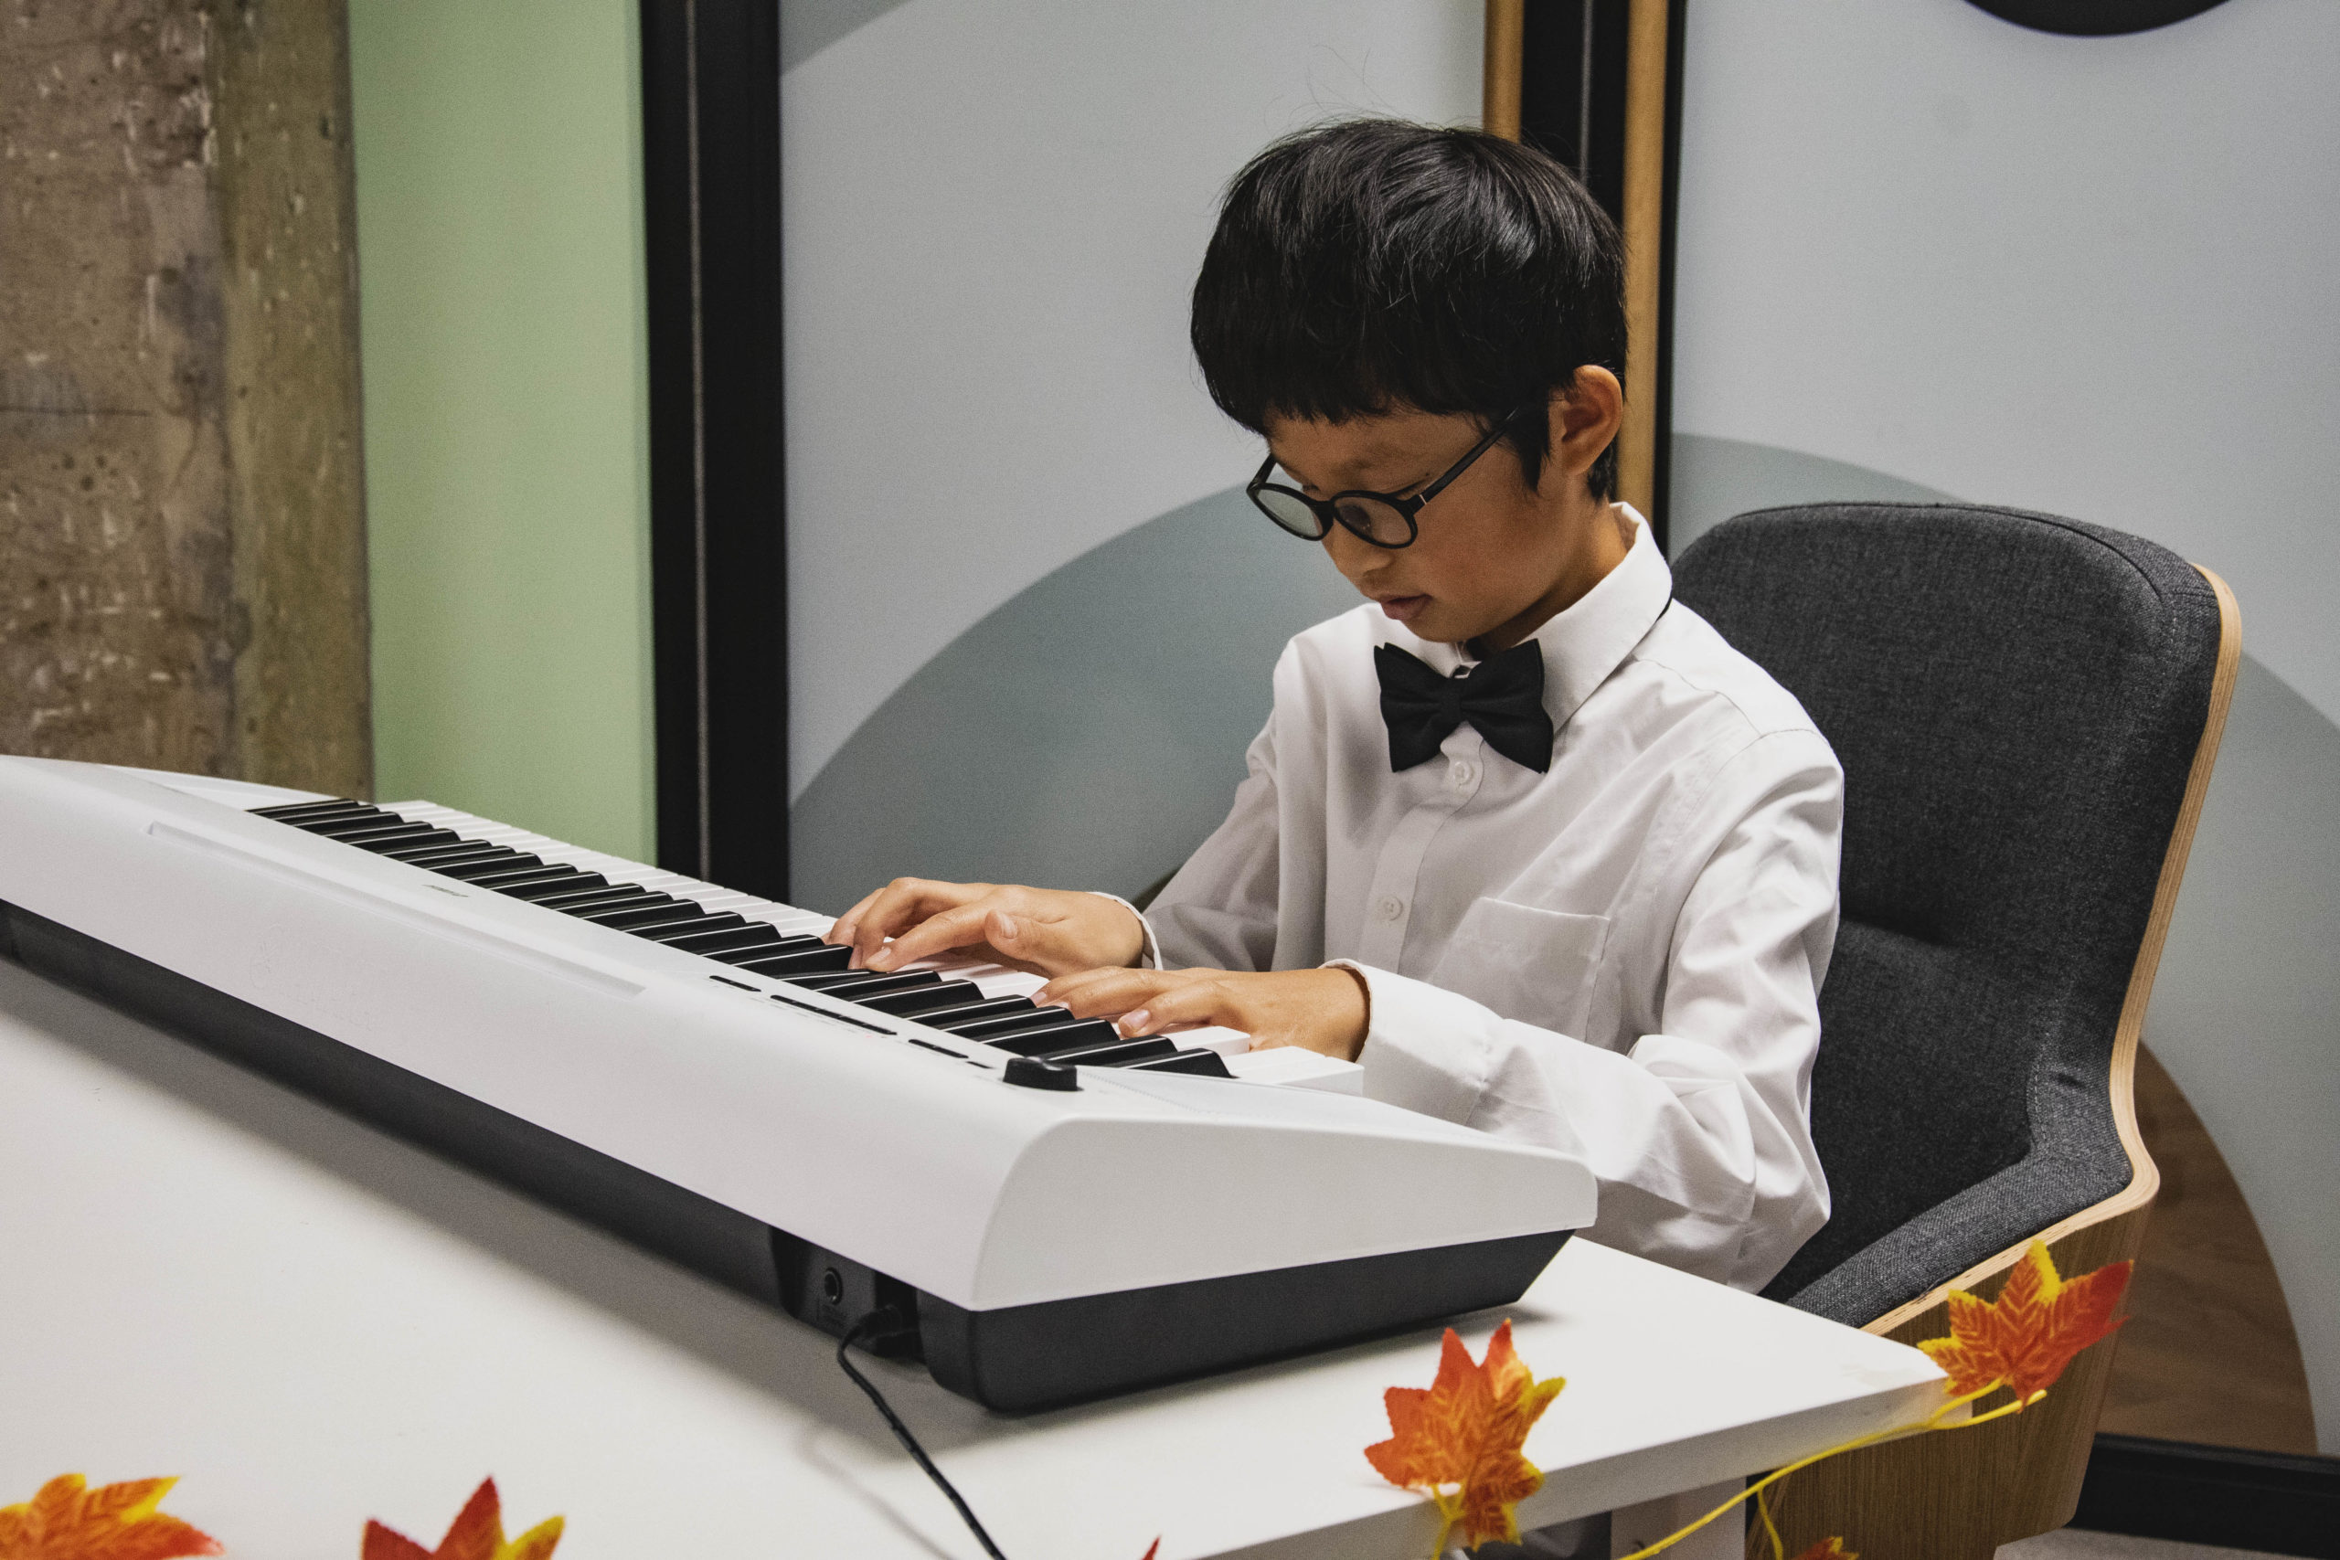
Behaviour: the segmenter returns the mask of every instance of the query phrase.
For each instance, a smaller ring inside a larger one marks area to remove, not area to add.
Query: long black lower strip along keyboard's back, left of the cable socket
[[[760,1219],[7,903],[0,903],[0,952],[753,1300],[782,1305],[772,1228]]]

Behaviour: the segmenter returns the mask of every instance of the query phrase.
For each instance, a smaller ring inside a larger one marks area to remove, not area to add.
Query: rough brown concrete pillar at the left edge
[[[342,0],[0,0],[0,751],[372,784]]]

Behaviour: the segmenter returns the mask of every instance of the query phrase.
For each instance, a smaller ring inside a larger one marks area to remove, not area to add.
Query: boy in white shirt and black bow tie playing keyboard
[[[1582,1153],[1594,1240],[1760,1289],[1828,1221],[1842,772],[1612,503],[1622,271],[1528,147],[1353,122],[1261,152],[1193,348],[1266,437],[1254,505],[1369,603],[1285,648],[1233,812],[1147,917],[901,879],[831,940],[1350,1057],[1378,1099]]]

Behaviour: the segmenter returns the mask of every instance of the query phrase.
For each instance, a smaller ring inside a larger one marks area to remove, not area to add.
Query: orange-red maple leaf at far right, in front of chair
[[[2129,1263],[2062,1279],[2047,1247],[2033,1240],[1998,1289],[1998,1300],[1952,1289],[1949,1338],[1928,1338],[1916,1347],[1949,1371],[1952,1396],[2003,1385],[2015,1392],[2017,1406],[2036,1403],[2073,1354],[2127,1321],[2113,1317],[2127,1286]]]

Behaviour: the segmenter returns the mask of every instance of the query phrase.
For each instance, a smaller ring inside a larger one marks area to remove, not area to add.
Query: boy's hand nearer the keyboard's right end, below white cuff
[[[1252,1048],[1301,1045],[1355,1062],[1364,1048],[1364,980],[1348,968],[1320,971],[1081,971],[1032,994],[1065,1003],[1074,1017],[1114,1017],[1121,1034],[1161,1034],[1224,1024],[1252,1036]]]

